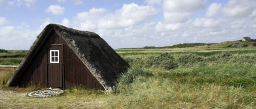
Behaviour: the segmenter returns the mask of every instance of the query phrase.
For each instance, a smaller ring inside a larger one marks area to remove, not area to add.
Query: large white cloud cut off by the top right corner
[[[222,12],[228,17],[247,17],[255,10],[255,0],[230,0]]]

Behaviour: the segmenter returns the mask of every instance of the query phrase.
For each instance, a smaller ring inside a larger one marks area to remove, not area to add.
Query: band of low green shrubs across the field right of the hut
[[[174,58],[177,57],[177,58]],[[125,61],[130,64],[136,64],[140,67],[163,67],[167,70],[175,69],[177,67],[202,67],[213,66],[220,64],[234,64],[234,63],[255,63],[256,54],[231,54],[230,52],[222,52],[220,54],[202,56],[197,54],[174,54],[161,53],[154,55],[144,55],[141,57],[123,57]]]

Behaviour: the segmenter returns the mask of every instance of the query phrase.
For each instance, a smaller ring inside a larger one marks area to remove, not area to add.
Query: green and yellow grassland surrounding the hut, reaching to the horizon
[[[61,96],[31,98],[28,92],[45,87],[1,84],[0,108],[256,108],[255,48],[232,43],[116,49],[131,67],[116,81],[115,92],[74,87]],[[0,80],[13,71],[0,68]]]

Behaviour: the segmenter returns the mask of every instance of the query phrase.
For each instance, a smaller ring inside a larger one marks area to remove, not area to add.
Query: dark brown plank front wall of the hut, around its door
[[[63,44],[64,45],[64,89],[69,87],[84,86],[88,89],[102,89],[103,86],[91,74],[88,68],[80,61],[79,57],[69,48],[62,37],[52,30],[44,42],[41,42],[38,52],[34,52],[34,57],[28,63],[25,69],[22,69],[21,75],[15,83],[18,86],[30,86],[32,84],[40,84],[47,86],[47,45]],[[49,60],[50,61],[50,60]]]

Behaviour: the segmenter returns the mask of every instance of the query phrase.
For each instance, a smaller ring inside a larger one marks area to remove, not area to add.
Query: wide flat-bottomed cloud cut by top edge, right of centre
[[[164,11],[185,11],[193,12],[205,8],[203,0],[165,0],[163,2]]]

